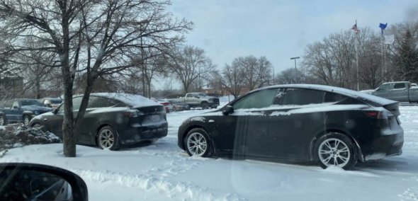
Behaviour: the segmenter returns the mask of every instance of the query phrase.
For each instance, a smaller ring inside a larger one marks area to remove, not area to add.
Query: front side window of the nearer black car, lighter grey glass
[[[235,110],[269,107],[273,103],[276,92],[277,88],[270,88],[250,93],[233,103],[232,107],[234,107]]]

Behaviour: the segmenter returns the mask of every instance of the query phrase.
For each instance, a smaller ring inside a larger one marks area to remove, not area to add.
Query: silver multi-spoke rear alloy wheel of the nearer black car
[[[343,168],[349,163],[351,153],[347,144],[341,139],[330,138],[320,144],[318,156],[325,166]]]

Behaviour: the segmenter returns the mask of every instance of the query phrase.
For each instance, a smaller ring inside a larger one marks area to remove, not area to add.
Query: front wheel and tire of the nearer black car
[[[213,154],[212,141],[208,137],[208,133],[201,128],[189,131],[184,139],[184,144],[188,156],[210,157]]]

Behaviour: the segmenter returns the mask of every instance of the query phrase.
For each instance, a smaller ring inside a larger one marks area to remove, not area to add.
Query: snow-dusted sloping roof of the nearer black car
[[[283,85],[275,85],[275,86],[266,86],[264,88],[259,88],[254,91],[262,90],[265,88],[309,88],[309,89],[316,89],[321,91],[328,91],[339,93],[345,96],[349,96],[351,98],[356,98],[366,103],[375,106],[382,106],[382,105],[390,105],[393,103],[397,103],[397,101],[392,101],[386,98],[380,98],[378,96],[373,96],[368,93],[362,93],[360,91],[353,91],[347,88],[341,88],[337,86],[327,86],[327,85],[320,85],[320,84],[283,84]]]

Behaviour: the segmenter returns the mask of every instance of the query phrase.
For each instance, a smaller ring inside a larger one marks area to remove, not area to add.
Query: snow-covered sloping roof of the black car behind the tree
[[[91,93],[90,96],[100,96],[104,98],[112,98],[121,101],[132,108],[148,107],[160,105],[144,96],[130,93]]]

